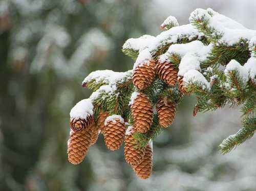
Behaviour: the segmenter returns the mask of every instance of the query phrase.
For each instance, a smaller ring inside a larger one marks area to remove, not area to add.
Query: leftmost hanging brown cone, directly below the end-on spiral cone
[[[72,164],[79,164],[86,156],[91,141],[91,131],[75,132],[70,130],[70,138],[68,140],[68,160]]]

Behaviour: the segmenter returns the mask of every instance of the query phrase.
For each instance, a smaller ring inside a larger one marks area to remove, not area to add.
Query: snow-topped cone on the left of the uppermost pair
[[[150,85],[156,75],[156,62],[151,60],[149,63],[145,62],[137,66],[133,71],[133,84],[138,89],[145,89]]]

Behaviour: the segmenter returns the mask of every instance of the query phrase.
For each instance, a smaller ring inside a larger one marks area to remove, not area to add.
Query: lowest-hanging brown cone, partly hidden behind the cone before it
[[[133,164],[133,170],[141,179],[147,179],[151,176],[153,167],[153,151],[151,146],[146,146],[144,158],[140,164]]]

